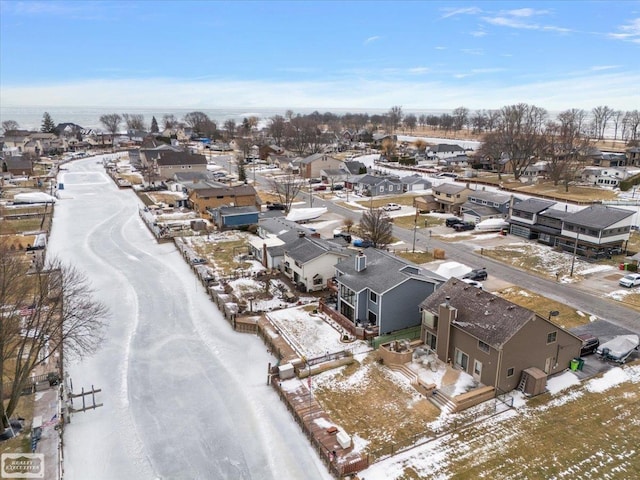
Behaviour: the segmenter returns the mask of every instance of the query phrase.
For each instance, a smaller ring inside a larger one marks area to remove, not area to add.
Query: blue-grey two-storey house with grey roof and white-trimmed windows
[[[336,265],[335,281],[341,319],[386,334],[420,325],[419,303],[444,278],[391,253],[366,248]]]

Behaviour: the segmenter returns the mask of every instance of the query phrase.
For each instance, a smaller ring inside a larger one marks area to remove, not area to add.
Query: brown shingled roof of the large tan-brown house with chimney
[[[536,314],[492,293],[451,278],[427,297],[420,307],[438,315],[446,302],[458,311],[452,326],[467,332],[494,348],[501,348]]]

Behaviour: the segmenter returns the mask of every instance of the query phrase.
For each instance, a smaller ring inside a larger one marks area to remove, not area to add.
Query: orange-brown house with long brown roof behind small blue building
[[[189,205],[200,215],[218,207],[259,207],[258,195],[251,185],[225,185],[211,181],[184,182]]]

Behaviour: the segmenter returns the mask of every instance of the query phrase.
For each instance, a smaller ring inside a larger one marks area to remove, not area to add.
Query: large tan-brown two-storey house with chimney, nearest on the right
[[[498,392],[517,388],[523,372],[565,371],[582,341],[548,318],[455,278],[421,304],[422,340]]]

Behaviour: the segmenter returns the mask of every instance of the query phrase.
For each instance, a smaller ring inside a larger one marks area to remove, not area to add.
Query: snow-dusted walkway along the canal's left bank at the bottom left
[[[40,440],[35,446],[34,453],[44,455],[44,478],[47,480],[60,478],[58,451],[62,439],[61,431],[56,430],[55,427],[60,423],[58,405],[61,388],[61,385],[57,385],[35,393],[31,438],[34,438],[36,428],[40,428]]]

